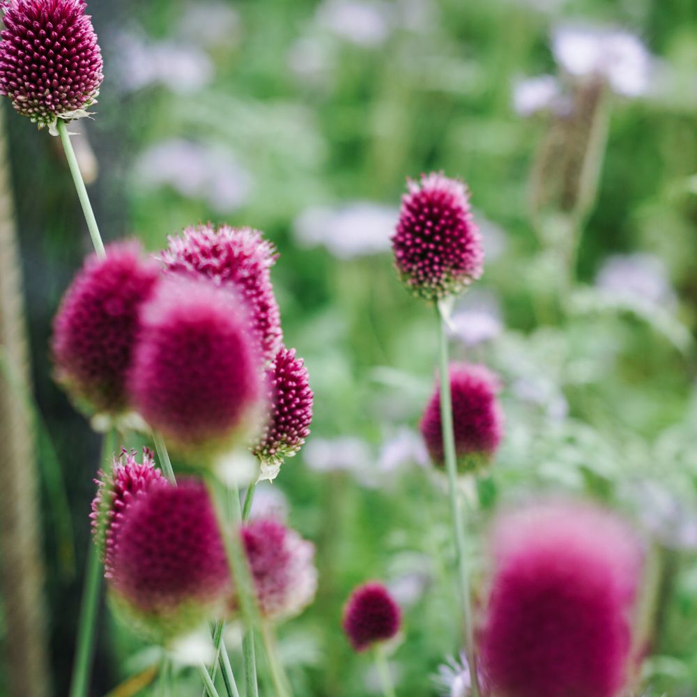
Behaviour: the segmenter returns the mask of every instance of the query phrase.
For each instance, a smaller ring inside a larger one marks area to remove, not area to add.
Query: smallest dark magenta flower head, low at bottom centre
[[[344,607],[344,631],[356,651],[388,641],[397,635],[400,625],[399,606],[381,583],[360,585]]]

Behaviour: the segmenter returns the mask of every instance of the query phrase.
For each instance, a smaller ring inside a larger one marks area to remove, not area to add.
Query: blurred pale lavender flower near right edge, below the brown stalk
[[[668,309],[673,309],[677,302],[666,265],[652,254],[636,252],[608,257],[596,283],[615,297],[644,300]]]

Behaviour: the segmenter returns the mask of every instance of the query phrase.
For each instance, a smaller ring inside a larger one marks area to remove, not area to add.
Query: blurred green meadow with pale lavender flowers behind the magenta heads
[[[455,308],[452,351],[504,384],[505,442],[469,492],[473,531],[496,506],[547,490],[625,512],[653,540],[660,599],[646,613],[641,694],[697,694],[697,2],[89,10],[106,77],[76,148],[105,241],[138,236],[155,251],[210,220],[259,228],[279,250],[286,344],[316,395],[305,449],[257,493],[317,546],[316,602],[280,631],[296,694],[375,694],[339,627],[348,592],[374,578],[405,611],[398,691],[450,695],[438,666],[459,648],[456,601],[434,553],[447,560],[447,507],[418,436],[435,320],[401,288],[389,241],[406,176],[431,169],[468,183],[487,253]],[[91,250],[58,140],[9,106],[45,674],[63,695],[99,438],[52,382],[48,342]],[[3,625],[0,641],[13,642]],[[93,694],[156,660],[104,604]],[[181,694],[197,685],[192,674]]]

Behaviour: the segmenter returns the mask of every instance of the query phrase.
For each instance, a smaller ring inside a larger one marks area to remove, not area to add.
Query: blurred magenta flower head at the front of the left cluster
[[[179,275],[143,307],[133,404],[184,450],[213,454],[256,426],[263,375],[244,310],[229,289]]]

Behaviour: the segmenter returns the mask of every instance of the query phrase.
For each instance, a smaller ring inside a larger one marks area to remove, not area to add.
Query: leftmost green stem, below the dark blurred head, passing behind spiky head
[[[100,466],[112,460],[116,434],[109,431],[102,440],[102,457]],[[75,647],[75,659],[72,664],[72,678],[70,680],[70,697],[86,697],[89,678],[92,670],[92,658],[94,656],[94,643],[97,625],[97,608],[99,604],[100,588],[102,586],[102,565],[99,560],[97,546],[89,539],[87,550],[87,562],[84,587],[82,589],[82,602],[77,625],[77,645]]]

